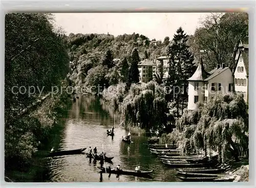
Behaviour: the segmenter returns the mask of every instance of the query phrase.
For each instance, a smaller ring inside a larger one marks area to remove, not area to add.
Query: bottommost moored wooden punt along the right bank
[[[225,176],[225,177],[183,177],[183,176],[175,176],[183,181],[233,181],[235,179],[234,176]]]

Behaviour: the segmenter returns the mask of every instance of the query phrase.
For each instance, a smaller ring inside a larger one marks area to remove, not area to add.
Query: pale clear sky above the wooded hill
[[[210,13],[55,13],[55,20],[67,35],[97,33],[118,36],[138,33],[156,40],[173,39],[181,26],[193,35],[200,19]]]

